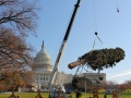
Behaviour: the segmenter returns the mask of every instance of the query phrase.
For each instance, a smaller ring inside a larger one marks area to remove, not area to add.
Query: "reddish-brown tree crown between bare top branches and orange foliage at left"
[[[23,36],[16,36],[11,29],[0,28],[0,68],[32,65],[32,46],[25,44]],[[19,69],[19,68],[16,68]]]

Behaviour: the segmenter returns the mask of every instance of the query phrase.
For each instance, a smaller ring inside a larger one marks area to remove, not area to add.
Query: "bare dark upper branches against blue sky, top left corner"
[[[16,33],[35,34],[37,27],[37,0],[0,0],[0,26]]]

